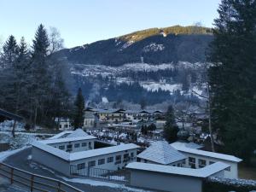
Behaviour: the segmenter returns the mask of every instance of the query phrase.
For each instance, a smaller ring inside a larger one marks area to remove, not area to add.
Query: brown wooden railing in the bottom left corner
[[[60,180],[25,172],[3,163],[0,163],[0,176],[8,178],[11,184],[34,192],[83,192]]]

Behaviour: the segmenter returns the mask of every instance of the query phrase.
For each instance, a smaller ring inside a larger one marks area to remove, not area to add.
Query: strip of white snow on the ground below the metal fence
[[[102,182],[102,181],[96,181],[96,180],[84,179],[84,178],[67,178],[67,177],[61,177],[61,178],[67,182],[83,183],[83,184],[89,184],[91,186],[106,186],[110,188],[126,189],[128,191],[133,191],[133,192],[151,192],[150,190],[134,189],[131,187],[126,187],[125,184],[119,184],[119,183]]]

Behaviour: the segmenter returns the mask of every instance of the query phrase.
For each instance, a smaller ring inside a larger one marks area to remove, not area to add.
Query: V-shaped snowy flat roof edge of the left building
[[[81,160],[81,159],[99,156],[103,154],[113,154],[120,151],[139,148],[136,144],[130,143],[130,144],[122,144],[122,145],[117,145],[117,146],[107,147],[107,148],[97,148],[97,149],[91,149],[87,151],[67,153],[66,151],[63,151],[59,148],[54,148],[42,142],[34,142],[32,143],[32,146],[36,148],[40,148],[41,150],[44,150],[49,154],[54,154],[55,156],[63,160],[69,160],[69,161]]]

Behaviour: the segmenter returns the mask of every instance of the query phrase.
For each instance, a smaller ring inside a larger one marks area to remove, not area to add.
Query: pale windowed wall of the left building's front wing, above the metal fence
[[[124,154],[129,154],[129,156],[131,156],[131,153],[133,153],[134,159],[129,160],[128,162],[123,162]],[[116,155],[121,155],[121,163],[120,164],[115,164],[115,162],[116,162],[115,156]],[[78,164],[85,163],[85,167],[87,167],[89,161],[96,160],[96,166],[93,166],[95,168],[118,170],[118,169],[122,169],[123,167],[125,167],[128,163],[136,161],[136,155],[137,155],[137,149],[131,149],[131,150],[127,150],[127,152],[121,151],[121,152],[117,152],[114,154],[104,154],[104,155],[86,158],[83,160],[75,160],[75,161],[71,162],[71,165],[78,166]],[[113,157],[113,162],[108,163],[108,157]],[[98,165],[98,160],[101,160],[101,159],[105,159],[105,163],[102,165]]]

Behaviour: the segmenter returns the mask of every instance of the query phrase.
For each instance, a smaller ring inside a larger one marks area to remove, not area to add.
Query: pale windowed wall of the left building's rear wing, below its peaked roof
[[[55,147],[55,148],[59,148],[60,146],[64,145],[65,148],[64,149],[60,148],[60,149],[63,150],[63,151],[67,151],[67,145],[72,144],[73,147],[72,147],[71,153],[74,153],[74,152],[86,151],[86,150],[89,150],[89,149],[93,149],[94,148],[94,142],[95,142],[95,139],[86,139],[86,140],[65,142],[65,143],[52,143],[52,144],[49,144],[49,145],[52,146],[52,147]],[[82,147],[82,143],[86,143],[86,146]],[[89,148],[89,143],[91,143],[91,148]],[[79,148],[75,148],[75,144],[80,144]]]

